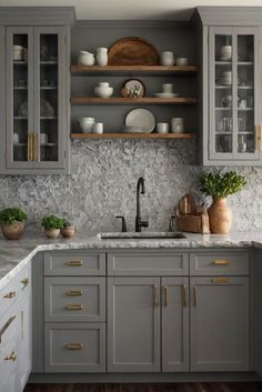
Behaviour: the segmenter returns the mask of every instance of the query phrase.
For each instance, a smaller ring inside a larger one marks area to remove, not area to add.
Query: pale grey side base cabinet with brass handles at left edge
[[[32,368],[31,270],[17,275],[17,301],[0,318],[0,392],[22,392]],[[6,293],[1,291],[2,294]]]

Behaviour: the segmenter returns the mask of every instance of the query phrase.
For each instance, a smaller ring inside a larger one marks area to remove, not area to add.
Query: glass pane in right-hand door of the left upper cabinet
[[[58,161],[58,34],[40,36],[40,160]]]

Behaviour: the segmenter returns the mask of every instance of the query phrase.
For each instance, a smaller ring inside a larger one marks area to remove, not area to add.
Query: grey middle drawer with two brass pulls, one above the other
[[[105,321],[105,278],[44,278],[46,321]]]

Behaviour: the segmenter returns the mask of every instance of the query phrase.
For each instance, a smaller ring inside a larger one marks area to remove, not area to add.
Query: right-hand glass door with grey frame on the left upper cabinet
[[[34,28],[34,130],[37,163],[63,167],[63,28]]]

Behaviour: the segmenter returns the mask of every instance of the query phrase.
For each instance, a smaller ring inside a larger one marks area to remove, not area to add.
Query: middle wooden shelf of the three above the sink
[[[72,104],[194,104],[196,98],[92,98],[72,97]]]

